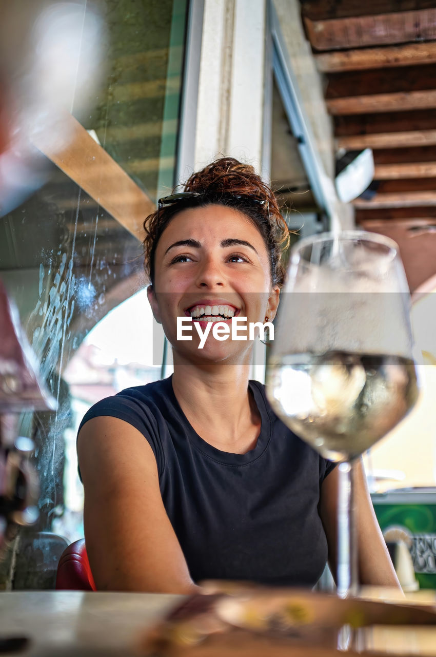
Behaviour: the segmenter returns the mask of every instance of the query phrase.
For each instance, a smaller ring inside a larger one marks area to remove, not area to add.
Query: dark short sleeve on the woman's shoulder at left
[[[154,456],[156,457],[158,473],[161,475],[163,471],[162,444],[159,439],[156,419],[146,404],[144,404],[143,401],[139,401],[131,396],[123,395],[122,393],[97,401],[97,403],[85,413],[85,416],[79,425],[77,436],[83,425],[86,424],[88,420],[104,416],[116,417],[120,420],[124,420],[124,422],[134,426],[135,429],[146,438],[148,443],[150,443]],[[81,480],[80,468],[78,466],[77,470],[79,472],[79,479]]]

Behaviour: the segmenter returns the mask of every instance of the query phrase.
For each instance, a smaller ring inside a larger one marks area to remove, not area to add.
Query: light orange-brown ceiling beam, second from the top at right
[[[321,73],[413,66],[436,62],[436,43],[406,43],[383,48],[360,48],[315,55],[316,68]]]

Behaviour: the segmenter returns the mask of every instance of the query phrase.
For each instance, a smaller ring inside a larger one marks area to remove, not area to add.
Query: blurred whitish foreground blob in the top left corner
[[[101,73],[102,21],[86,2],[0,0],[0,217],[41,187]]]

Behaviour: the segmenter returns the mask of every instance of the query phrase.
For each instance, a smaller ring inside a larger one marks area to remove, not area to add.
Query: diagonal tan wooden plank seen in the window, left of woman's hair
[[[68,135],[62,147],[53,134],[33,135],[34,145],[132,235],[142,240],[142,222],[156,209],[152,200],[74,116],[65,113],[55,128],[53,134]]]

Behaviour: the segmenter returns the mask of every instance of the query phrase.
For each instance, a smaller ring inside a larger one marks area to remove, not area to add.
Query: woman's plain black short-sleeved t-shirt
[[[185,417],[171,377],[102,399],[83,418],[109,415],[148,440],[160,491],[192,579],[248,579],[313,586],[327,559],[318,515],[322,480],[334,468],[272,411],[250,381],[261,415],[246,454],[215,449]]]

